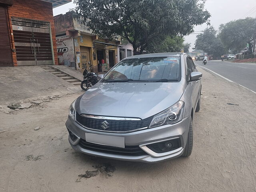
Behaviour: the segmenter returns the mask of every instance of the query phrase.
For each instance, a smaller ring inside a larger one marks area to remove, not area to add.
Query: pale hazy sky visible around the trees
[[[65,14],[69,9],[74,8],[73,0],[70,3],[53,9],[53,14]],[[256,17],[256,0],[206,0],[205,8],[210,12],[210,23],[216,30],[220,24],[240,18]],[[206,24],[195,26],[194,31],[202,31]],[[185,42],[191,43],[190,51],[194,47],[197,34],[190,34],[185,37]]]

